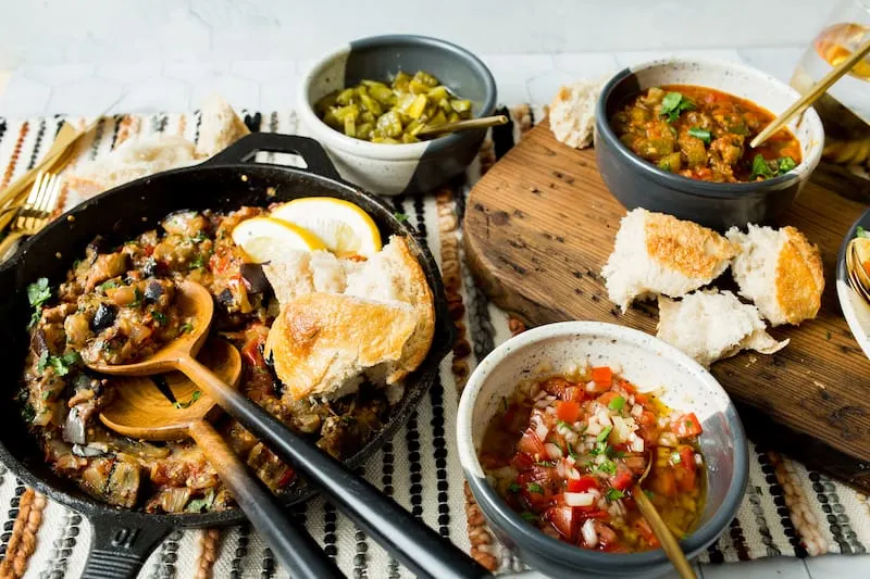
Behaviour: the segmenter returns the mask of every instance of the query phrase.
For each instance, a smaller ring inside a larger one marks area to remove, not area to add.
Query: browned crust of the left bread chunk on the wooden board
[[[662,267],[705,282],[718,277],[722,263],[736,254],[736,248],[712,229],[663,213],[647,215],[646,250]]]

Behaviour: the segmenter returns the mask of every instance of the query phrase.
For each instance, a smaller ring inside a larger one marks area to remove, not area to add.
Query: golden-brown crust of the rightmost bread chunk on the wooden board
[[[776,302],[788,324],[799,324],[819,313],[824,270],[818,246],[794,227],[783,227],[786,239],[776,261]]]

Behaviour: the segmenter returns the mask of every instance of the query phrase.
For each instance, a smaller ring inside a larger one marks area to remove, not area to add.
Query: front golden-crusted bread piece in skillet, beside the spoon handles
[[[383,366],[399,362],[415,327],[407,303],[311,293],[282,307],[265,353],[285,395],[336,399],[355,392],[363,375],[388,376]]]

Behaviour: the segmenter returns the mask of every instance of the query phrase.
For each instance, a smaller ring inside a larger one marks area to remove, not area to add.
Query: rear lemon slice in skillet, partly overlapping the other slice
[[[271,216],[304,227],[338,256],[371,257],[381,251],[381,232],[368,213],[349,201],[306,197],[275,207]]]

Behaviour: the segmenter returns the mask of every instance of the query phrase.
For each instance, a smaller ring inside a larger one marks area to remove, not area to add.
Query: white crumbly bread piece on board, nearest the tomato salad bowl
[[[696,291],[680,301],[659,297],[657,337],[705,367],[741,350],[772,354],[788,344],[767,332],[758,309],[717,290]]]

